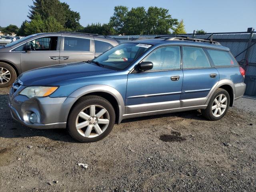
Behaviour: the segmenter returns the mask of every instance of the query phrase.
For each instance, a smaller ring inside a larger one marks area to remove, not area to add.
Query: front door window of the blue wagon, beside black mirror
[[[180,47],[170,46],[155,50],[144,61],[153,63],[152,70],[167,70],[180,68]]]

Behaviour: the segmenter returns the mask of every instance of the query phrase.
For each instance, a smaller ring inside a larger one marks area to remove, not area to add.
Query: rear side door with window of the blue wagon
[[[181,106],[198,106],[205,103],[205,97],[219,81],[218,70],[212,67],[203,48],[182,46],[183,84]]]

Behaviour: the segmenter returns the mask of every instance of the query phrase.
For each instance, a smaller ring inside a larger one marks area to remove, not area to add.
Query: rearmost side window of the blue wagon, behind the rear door
[[[206,49],[215,66],[237,66],[233,56],[228,51]]]

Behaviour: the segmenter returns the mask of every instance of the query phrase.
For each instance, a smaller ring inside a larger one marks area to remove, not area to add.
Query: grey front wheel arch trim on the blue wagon
[[[118,92],[115,88],[107,85],[100,85],[100,84],[89,85],[89,86],[84,86],[82,88],[79,88],[78,90],[72,92],[72,94],[70,94],[68,97],[77,98],[76,102],[78,102],[80,98],[88,95],[101,96],[106,100],[108,100],[114,107],[114,110],[116,113],[116,122],[120,123],[122,121],[122,115],[124,114],[124,109],[125,109],[124,100],[120,92]],[[70,111],[72,110],[76,102],[72,104]],[[69,113],[68,113],[68,116],[69,116]]]

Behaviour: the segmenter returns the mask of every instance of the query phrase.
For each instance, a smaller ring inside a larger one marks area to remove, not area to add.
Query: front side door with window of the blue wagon
[[[126,114],[180,107],[183,72],[179,46],[154,50],[146,59],[150,71],[128,74]]]

